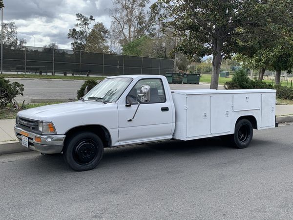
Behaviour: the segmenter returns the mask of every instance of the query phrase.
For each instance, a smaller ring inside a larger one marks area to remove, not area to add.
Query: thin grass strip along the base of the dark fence
[[[52,75],[35,75],[35,74],[9,74],[3,73],[0,76],[4,76],[6,78],[26,78],[26,79],[74,79],[74,80],[103,80],[103,77],[86,77],[86,76],[52,76]]]

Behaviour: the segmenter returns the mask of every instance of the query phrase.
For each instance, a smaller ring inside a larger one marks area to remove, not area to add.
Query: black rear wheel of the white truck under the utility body
[[[236,148],[247,148],[253,136],[251,122],[247,119],[239,120],[235,125],[235,132],[221,136],[223,142]]]

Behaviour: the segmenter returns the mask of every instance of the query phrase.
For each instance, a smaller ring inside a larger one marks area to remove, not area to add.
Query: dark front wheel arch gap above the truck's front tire
[[[82,126],[77,126],[74,128],[71,128],[70,130],[68,130],[67,132],[65,132],[65,140],[64,142],[66,142],[69,137],[76,133],[76,132],[93,132],[95,134],[97,134],[104,145],[104,148],[110,148],[111,147],[111,135],[110,132],[102,125],[82,125]]]

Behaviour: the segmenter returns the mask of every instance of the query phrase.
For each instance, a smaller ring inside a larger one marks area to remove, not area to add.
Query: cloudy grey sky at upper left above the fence
[[[28,46],[43,46],[55,42],[61,49],[70,49],[69,28],[76,23],[77,13],[93,15],[95,22],[110,27],[108,9],[111,0],[3,0],[3,22],[15,22],[19,39]]]

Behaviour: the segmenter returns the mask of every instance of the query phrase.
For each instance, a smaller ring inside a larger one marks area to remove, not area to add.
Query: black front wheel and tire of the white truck
[[[93,132],[79,132],[69,138],[63,149],[65,163],[76,171],[94,169],[104,154],[100,137]]]

